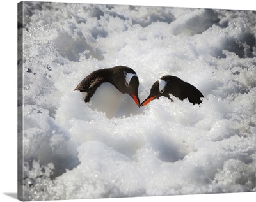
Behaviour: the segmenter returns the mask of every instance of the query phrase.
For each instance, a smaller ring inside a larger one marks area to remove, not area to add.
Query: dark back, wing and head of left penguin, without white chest
[[[87,103],[102,83],[111,83],[111,85],[115,86],[122,94],[129,94],[136,105],[140,107],[138,76],[133,69],[126,66],[115,66],[113,68],[93,71],[90,75],[86,76],[74,90],[86,92],[84,102]],[[106,96],[108,96],[108,92],[104,92],[104,97]],[[104,97],[99,97],[100,101],[103,101]],[[115,97],[111,98],[115,99]],[[115,103],[113,103],[113,105],[115,105]]]

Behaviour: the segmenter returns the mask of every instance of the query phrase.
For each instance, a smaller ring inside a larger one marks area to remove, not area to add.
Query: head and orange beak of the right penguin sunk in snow
[[[152,99],[156,99],[160,96],[165,96],[170,99],[169,81],[164,78],[159,78],[151,87],[149,96],[141,103],[140,106],[147,105]]]

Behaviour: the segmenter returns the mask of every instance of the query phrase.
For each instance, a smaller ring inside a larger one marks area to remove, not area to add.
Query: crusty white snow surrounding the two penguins
[[[255,191],[255,11],[27,2],[19,26],[24,200]],[[141,101],[163,75],[205,99],[106,117],[73,90],[117,65]]]

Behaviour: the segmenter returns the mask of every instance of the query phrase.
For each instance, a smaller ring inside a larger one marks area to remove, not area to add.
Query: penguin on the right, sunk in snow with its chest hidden
[[[172,100],[170,94],[181,100],[188,98],[189,102],[194,105],[202,103],[200,98],[204,97],[195,86],[184,82],[176,76],[167,75],[159,78],[159,80],[152,85],[149,96],[141,103],[141,106],[147,105],[152,99],[156,99],[160,96],[165,96]]]

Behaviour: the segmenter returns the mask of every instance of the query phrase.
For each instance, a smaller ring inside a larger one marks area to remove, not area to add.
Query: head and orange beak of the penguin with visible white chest
[[[118,71],[115,75],[116,89],[123,94],[129,94],[132,97],[136,105],[140,107],[140,99],[138,96],[139,79],[135,71],[131,68],[122,68],[122,71]]]

